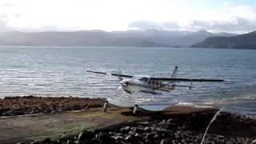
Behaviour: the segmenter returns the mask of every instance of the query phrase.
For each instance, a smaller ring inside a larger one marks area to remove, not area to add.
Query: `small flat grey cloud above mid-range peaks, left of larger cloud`
[[[180,26],[176,22],[152,22],[152,21],[137,21],[131,22],[128,26],[130,29],[135,30],[146,30],[146,29],[157,29],[157,30],[178,30]]]

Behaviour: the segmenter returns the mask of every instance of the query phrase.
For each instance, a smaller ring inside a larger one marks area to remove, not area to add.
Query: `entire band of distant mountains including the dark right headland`
[[[2,32],[0,46],[138,46],[256,49],[256,32],[248,34],[199,31],[46,31]]]

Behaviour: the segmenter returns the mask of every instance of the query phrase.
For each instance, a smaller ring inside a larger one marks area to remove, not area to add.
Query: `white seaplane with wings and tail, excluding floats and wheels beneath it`
[[[206,78],[178,78],[178,66],[174,67],[170,78],[154,78],[145,75],[126,75],[117,73],[106,73],[99,71],[86,70],[86,72],[94,74],[104,74],[118,77],[120,80],[120,88],[128,94],[135,92],[162,94],[163,92],[170,92],[176,87],[192,88],[192,82],[224,82],[222,79],[206,79]],[[178,82],[190,82],[190,86],[178,85]]]

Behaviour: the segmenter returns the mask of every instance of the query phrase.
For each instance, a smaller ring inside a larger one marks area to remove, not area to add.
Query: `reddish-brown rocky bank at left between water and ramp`
[[[0,116],[52,114],[70,110],[96,108],[102,107],[104,101],[101,98],[6,97],[0,99]]]

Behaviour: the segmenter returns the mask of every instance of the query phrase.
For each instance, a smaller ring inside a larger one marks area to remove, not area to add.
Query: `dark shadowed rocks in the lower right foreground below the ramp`
[[[205,110],[194,114],[152,114],[150,118],[139,121],[119,123],[93,131],[85,130],[80,134],[54,141],[46,138],[32,143],[197,144],[202,141],[206,126],[216,112],[217,110]],[[138,117],[142,115],[136,114]],[[222,112],[210,126],[204,143],[250,144],[255,139],[255,119]]]

